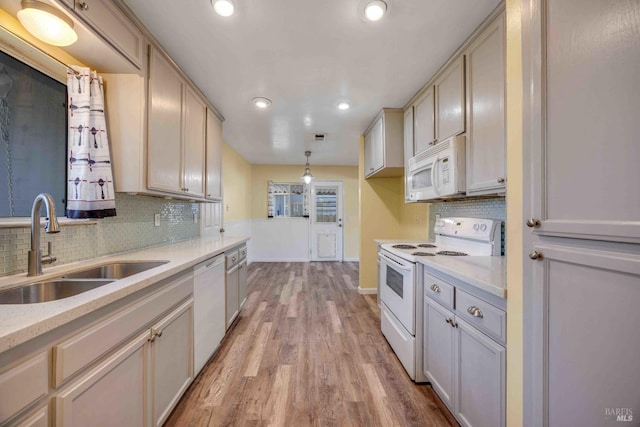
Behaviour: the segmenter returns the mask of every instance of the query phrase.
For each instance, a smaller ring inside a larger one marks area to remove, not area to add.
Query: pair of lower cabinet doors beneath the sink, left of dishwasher
[[[193,379],[188,300],[55,397],[57,426],[162,425]]]

